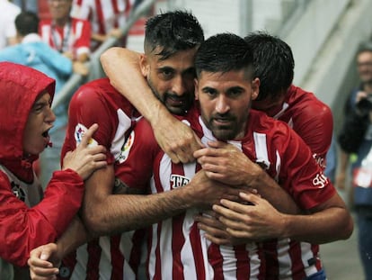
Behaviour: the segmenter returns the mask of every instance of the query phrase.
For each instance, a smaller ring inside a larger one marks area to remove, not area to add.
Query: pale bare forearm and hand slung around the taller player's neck
[[[139,53],[111,48],[102,54],[101,63],[106,75],[110,77],[111,85],[127,97],[151,123],[157,142],[173,162],[193,161],[192,152],[200,147],[198,137],[155,98],[146,78],[141,74],[139,58]]]

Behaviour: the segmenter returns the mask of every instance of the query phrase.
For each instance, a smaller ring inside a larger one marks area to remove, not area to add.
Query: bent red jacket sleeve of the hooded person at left
[[[54,242],[80,208],[84,182],[73,170],[56,171],[44,199],[29,208],[0,172],[0,257],[26,266],[31,249]]]

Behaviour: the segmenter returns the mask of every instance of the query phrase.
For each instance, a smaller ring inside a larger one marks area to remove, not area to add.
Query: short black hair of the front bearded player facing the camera
[[[202,71],[226,73],[246,68],[252,72],[252,51],[243,38],[232,33],[219,33],[200,45],[195,68],[198,77]]]

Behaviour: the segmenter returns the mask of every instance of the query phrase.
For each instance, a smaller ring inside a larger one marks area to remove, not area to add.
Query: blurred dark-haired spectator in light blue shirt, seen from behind
[[[15,18],[17,45],[7,47],[0,52],[0,61],[11,61],[35,68],[40,72],[56,79],[56,95],[73,73],[85,74],[83,63],[72,62],[60,54],[57,50],[50,48],[48,44],[41,41],[38,34],[39,19],[36,14],[22,12]],[[54,113],[57,121],[50,131],[53,142],[51,149],[46,149],[40,155],[40,181],[42,185],[48,185],[52,172],[60,169],[60,150],[65,140],[67,123],[67,104],[60,104]]]

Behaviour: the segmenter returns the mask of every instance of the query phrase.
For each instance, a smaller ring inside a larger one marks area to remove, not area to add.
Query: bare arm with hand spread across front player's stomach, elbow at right
[[[310,210],[309,214],[284,214],[254,194],[240,194],[250,204],[222,200],[214,205],[217,221],[198,217],[199,228],[217,244],[244,243],[250,240],[290,238],[313,244],[348,239],[353,222],[345,204],[336,193],[329,200]],[[223,230],[226,230],[227,234]],[[340,232],[335,230],[341,230]]]

